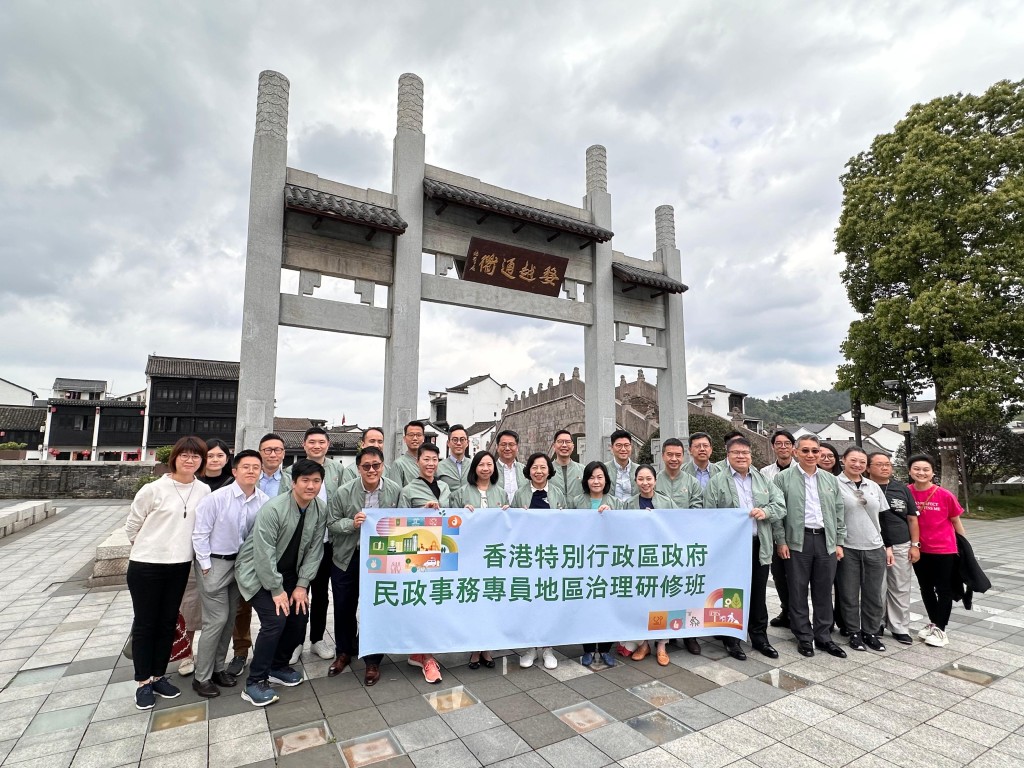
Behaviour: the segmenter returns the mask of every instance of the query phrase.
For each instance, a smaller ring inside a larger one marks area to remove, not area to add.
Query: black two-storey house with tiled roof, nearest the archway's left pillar
[[[141,444],[147,459],[185,435],[219,437],[234,445],[238,362],[151,354],[145,382],[148,408]]]

